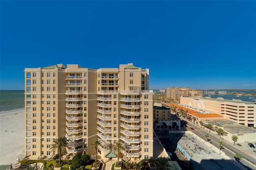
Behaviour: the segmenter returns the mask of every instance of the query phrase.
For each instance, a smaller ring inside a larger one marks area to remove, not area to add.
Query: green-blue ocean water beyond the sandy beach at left
[[[0,113],[24,108],[24,90],[0,90]]]

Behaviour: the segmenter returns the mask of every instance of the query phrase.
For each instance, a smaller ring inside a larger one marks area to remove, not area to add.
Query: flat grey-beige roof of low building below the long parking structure
[[[241,133],[256,133],[256,129],[252,127],[246,127],[238,123],[228,121],[225,119],[222,120],[202,120],[207,124],[217,125],[218,127],[223,127],[224,131],[230,132],[232,134],[241,134]],[[213,127],[214,128],[214,127]]]

